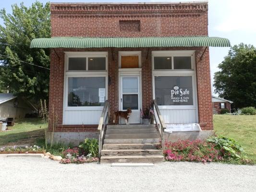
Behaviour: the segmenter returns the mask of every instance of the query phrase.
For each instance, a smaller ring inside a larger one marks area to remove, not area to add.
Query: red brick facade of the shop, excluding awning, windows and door
[[[128,22],[134,25],[134,31],[124,30],[125,28],[121,31],[120,21],[140,21],[140,30],[135,31],[138,27],[135,24],[138,24],[138,22]],[[207,36],[207,24],[207,3],[51,4],[52,36]],[[119,106],[118,51],[141,51],[142,53],[142,108],[145,109],[150,106],[153,99],[152,50],[195,50],[199,123],[203,130],[213,130],[209,51],[205,47],[52,49],[49,128],[53,127],[54,121],[55,125],[58,124],[55,131],[97,131],[95,125],[62,125],[63,51],[108,51],[108,75],[111,79],[111,84],[108,85],[108,100],[110,102],[110,113],[113,114]],[[53,117],[55,117],[55,120],[53,120]]]

